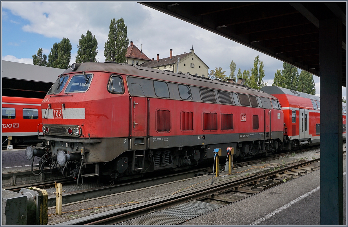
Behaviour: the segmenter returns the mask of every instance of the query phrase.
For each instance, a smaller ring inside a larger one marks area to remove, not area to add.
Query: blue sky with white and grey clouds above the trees
[[[63,37],[72,44],[71,61],[75,62],[81,34],[87,30],[98,41],[100,62],[105,60],[104,43],[108,39],[112,18],[123,18],[127,25],[127,37],[149,58],[169,57],[195,49],[195,54],[209,67],[221,67],[230,74],[233,60],[237,69],[248,70],[259,56],[264,64],[264,82],[272,85],[277,69],[283,62],[245,47],[242,44],[209,32],[181,19],[169,16],[137,2],[1,2],[1,57],[2,60],[32,64],[32,55],[39,48],[48,57],[54,43]],[[299,69],[299,73],[301,70]],[[319,77],[313,76],[316,95],[319,96]],[[342,88],[343,96],[346,89]]]

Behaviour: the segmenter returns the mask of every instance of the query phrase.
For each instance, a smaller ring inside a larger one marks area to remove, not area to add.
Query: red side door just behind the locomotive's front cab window
[[[133,118],[130,122],[132,136],[146,136],[146,98],[133,96],[130,108]]]

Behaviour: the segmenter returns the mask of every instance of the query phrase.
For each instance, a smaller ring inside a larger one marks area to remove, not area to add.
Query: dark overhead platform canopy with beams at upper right
[[[319,20],[342,19],[346,85],[346,2],[142,2],[319,76]]]

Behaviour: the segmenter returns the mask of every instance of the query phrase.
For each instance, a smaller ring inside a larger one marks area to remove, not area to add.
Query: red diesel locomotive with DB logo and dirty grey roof
[[[64,176],[185,169],[282,149],[278,99],[245,85],[141,66],[74,63],[42,102],[44,143],[27,147]],[[222,154],[226,157],[227,153]],[[34,161],[34,160],[33,160]]]

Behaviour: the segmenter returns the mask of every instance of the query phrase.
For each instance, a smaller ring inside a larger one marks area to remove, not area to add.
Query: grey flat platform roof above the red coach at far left
[[[44,98],[65,69],[2,61],[2,95]]]

